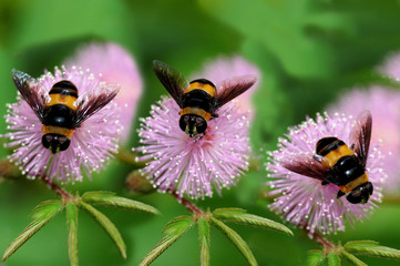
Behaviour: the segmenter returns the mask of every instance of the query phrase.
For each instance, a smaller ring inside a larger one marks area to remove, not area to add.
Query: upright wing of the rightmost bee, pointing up
[[[350,132],[351,149],[355,153],[357,153],[363,167],[366,167],[367,164],[371,131],[372,115],[369,110],[365,110],[357,116]]]

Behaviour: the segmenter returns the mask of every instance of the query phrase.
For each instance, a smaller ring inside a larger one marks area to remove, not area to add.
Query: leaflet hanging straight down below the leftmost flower
[[[69,202],[65,205],[68,227],[68,255],[71,266],[79,265],[78,256],[78,207],[75,203]]]

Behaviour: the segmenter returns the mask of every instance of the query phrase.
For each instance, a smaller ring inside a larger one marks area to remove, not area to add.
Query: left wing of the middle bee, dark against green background
[[[188,81],[178,71],[174,70],[166,63],[154,60],[153,71],[168,91],[175,102],[182,108],[182,94],[189,85]]]

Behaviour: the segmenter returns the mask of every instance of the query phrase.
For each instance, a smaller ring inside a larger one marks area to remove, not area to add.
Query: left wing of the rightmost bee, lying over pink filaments
[[[300,175],[325,181],[328,176],[328,168],[320,163],[319,155],[307,153],[296,154],[280,161],[281,166]]]

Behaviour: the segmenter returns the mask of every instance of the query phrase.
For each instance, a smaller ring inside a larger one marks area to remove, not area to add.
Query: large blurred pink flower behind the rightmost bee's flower
[[[381,142],[382,168],[388,174],[384,192],[397,193],[400,187],[400,92],[371,86],[353,89],[328,106],[328,112],[340,112],[356,116],[365,109],[373,117],[372,141]]]

